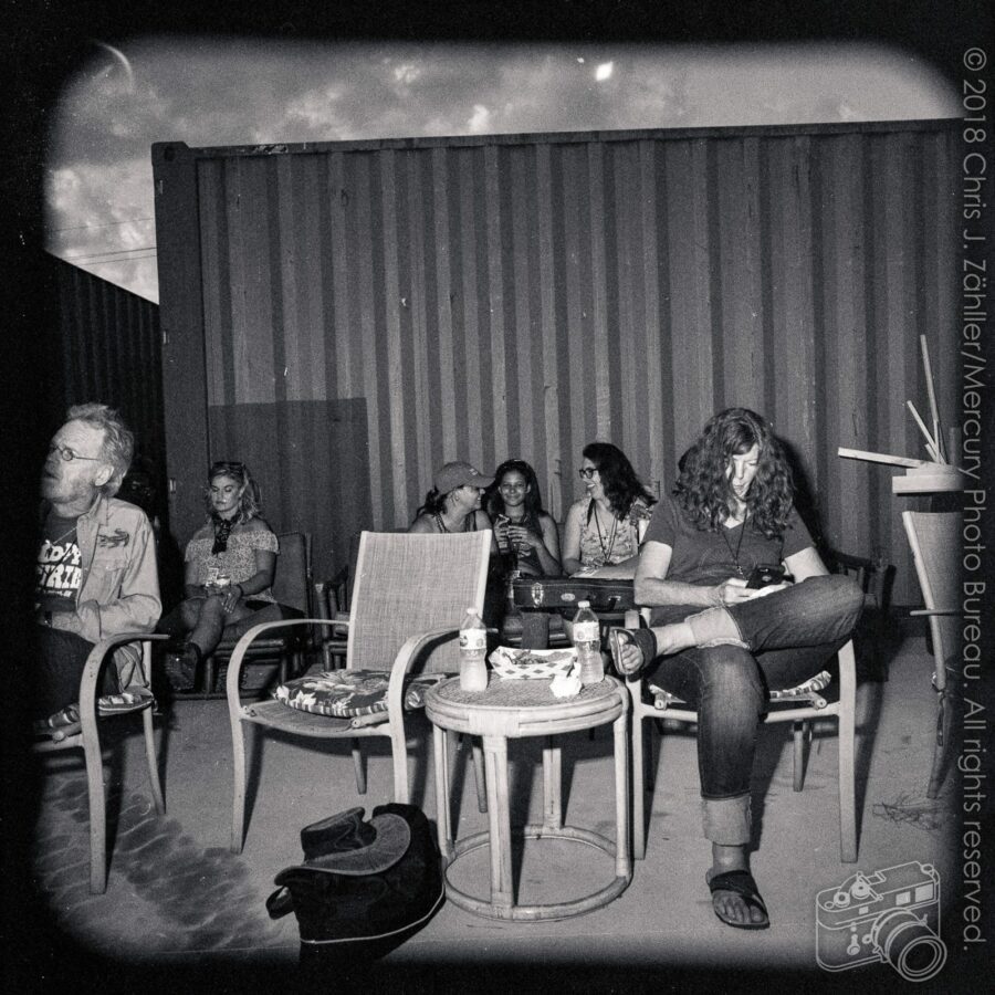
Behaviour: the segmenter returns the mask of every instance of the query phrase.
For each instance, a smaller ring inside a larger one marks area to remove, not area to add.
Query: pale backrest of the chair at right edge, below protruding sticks
[[[939,668],[957,652],[961,633],[961,619],[953,614],[961,607],[961,515],[959,512],[902,512],[902,524],[912,547],[923,604],[932,610],[952,612],[929,617]]]

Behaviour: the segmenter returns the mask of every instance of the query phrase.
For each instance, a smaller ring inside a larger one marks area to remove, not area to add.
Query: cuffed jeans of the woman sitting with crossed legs
[[[823,670],[850,638],[863,594],[850,578],[810,577],[785,590],[726,608],[748,649],[694,647],[658,657],[652,680],[698,711],[698,771],[705,837],[750,842],[750,776],[769,690],[792,688]],[[654,608],[651,625],[683,621],[687,605]]]

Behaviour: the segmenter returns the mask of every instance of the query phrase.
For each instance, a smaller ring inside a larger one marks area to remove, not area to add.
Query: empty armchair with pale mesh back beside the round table
[[[467,608],[483,609],[491,532],[460,535],[409,535],[364,532],[359,542],[349,604],[346,667],[389,678],[386,711],[358,718],[334,718],[289,708],[272,700],[242,705],[239,671],[252,642],[280,627],[332,626],[331,619],[294,619],[254,626],[240,640],[228,668],[228,709],[234,758],[231,849],[241,852],[245,821],[245,745],[243,725],[353,743],[356,786],[366,790],[358,740],[386,736],[394,760],[394,800],[407,803],[408,764],[405,732],[405,678],[410,672],[459,670],[459,627]]]

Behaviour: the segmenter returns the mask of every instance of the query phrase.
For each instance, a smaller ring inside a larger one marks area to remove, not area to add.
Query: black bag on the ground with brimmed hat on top
[[[293,911],[302,968],[384,956],[415,935],[446,897],[431,826],[413,805],[350,808],[301,830],[304,862],[284,868],[266,900]]]

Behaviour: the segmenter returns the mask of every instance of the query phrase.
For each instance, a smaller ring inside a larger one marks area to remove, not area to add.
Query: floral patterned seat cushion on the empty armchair
[[[425,692],[450,673],[425,673],[405,678],[405,709],[425,706]],[[387,711],[390,674],[381,670],[323,670],[281,684],[274,693],[292,709],[350,719]]]

